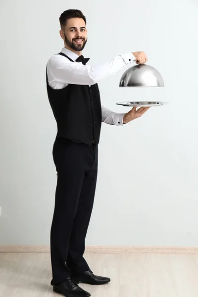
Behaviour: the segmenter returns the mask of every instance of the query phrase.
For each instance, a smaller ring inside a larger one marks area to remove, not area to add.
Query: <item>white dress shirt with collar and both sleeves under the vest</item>
[[[78,55],[63,48],[62,53],[70,59],[76,61]],[[120,54],[119,56],[106,61],[97,66],[83,65],[82,62],[72,62],[60,54],[49,58],[47,64],[47,74],[49,86],[52,89],[63,89],[68,84],[73,85],[94,85],[107,76],[113,75],[129,63],[135,61],[135,56],[130,53]],[[102,101],[102,100],[101,100]],[[101,103],[102,122],[109,125],[123,125],[125,113],[117,113],[106,108]]]

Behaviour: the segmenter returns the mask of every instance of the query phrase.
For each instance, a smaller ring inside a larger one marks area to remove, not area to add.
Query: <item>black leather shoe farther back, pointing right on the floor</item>
[[[104,285],[110,282],[110,278],[94,275],[90,269],[80,275],[73,275],[72,278],[77,284],[86,283],[90,285]]]

